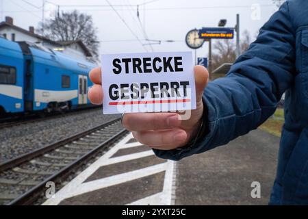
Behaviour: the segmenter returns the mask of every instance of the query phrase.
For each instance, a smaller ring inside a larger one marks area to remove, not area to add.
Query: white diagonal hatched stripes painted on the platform
[[[94,172],[96,172],[101,166],[118,164],[120,162],[127,162],[129,160],[138,159],[141,157],[149,157],[151,155],[154,155],[153,151],[149,149],[149,151],[111,158],[120,149],[127,149],[134,146],[142,145],[138,142],[125,144],[126,142],[131,140],[131,138],[133,138],[133,136],[130,133],[118,144],[116,144],[116,146],[110,149],[110,151],[105,153],[105,155],[100,157],[86,170],[81,172],[80,175],[78,175],[77,177],[75,177],[75,179],[70,181],[70,183],[65,185],[64,188],[62,188],[59,192],[57,192],[57,194],[55,194],[55,198],[50,198],[45,203],[43,203],[43,205],[58,205],[66,198],[78,196],[80,194],[85,194],[87,192],[93,192],[95,190],[107,188],[112,185],[126,183],[128,181],[140,179],[142,177],[147,177],[150,175],[155,175],[159,172],[164,172],[164,171],[165,171],[165,178],[164,178],[164,188],[162,192],[153,194],[146,198],[142,198],[138,201],[134,201],[133,203],[129,203],[129,205],[171,205],[172,185],[175,183],[175,179],[173,177],[175,174],[174,172],[175,162],[172,161],[84,183],[84,181],[86,181],[86,179],[88,179],[88,177],[90,177]]]

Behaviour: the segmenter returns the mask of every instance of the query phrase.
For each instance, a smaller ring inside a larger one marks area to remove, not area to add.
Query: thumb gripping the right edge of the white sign
[[[209,82],[209,72],[204,66],[194,66],[194,79],[196,83],[196,101],[202,101],[203,91]]]

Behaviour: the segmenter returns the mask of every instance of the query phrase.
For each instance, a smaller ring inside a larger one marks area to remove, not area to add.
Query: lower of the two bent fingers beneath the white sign
[[[160,150],[177,149],[188,140],[188,135],[183,129],[137,131],[133,132],[133,136],[141,144]]]

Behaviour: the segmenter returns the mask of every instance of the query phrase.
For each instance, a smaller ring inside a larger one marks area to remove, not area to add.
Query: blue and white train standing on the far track
[[[94,67],[36,44],[0,38],[0,115],[90,105],[88,73]]]

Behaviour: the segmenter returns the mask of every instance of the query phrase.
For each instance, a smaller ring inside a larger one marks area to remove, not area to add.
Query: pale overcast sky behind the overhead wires
[[[150,3],[142,6],[144,2]],[[99,39],[105,41],[101,42],[101,53],[130,53],[151,51],[149,45],[142,46],[146,42],[136,16],[136,5],[140,5],[140,21],[149,39],[177,41],[154,44],[154,51],[190,51],[185,44],[185,35],[190,29],[217,27],[221,18],[228,20],[227,27],[234,27],[237,13],[240,14],[241,32],[247,29],[255,36],[277,10],[271,0],[110,0],[110,3],[133,34],[105,0],[49,0],[44,16],[49,18],[57,9],[56,5],[60,5],[60,10],[77,9],[91,14]],[[1,20],[4,16],[12,16],[19,27],[36,27],[42,21],[42,0],[0,0],[0,13]],[[207,44],[197,52],[200,57],[207,56]]]

